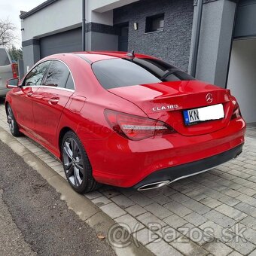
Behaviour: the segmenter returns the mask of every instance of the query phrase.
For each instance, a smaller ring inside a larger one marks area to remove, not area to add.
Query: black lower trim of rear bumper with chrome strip
[[[157,172],[153,172],[137,183],[133,188],[139,189],[146,184],[157,183],[160,181],[177,181],[181,178],[186,178],[192,175],[197,175],[200,172],[205,172],[215,166],[225,163],[233,158],[236,158],[242,153],[243,143],[236,148],[232,148],[229,151],[225,151],[221,154],[217,154],[212,157],[207,157],[202,160],[197,160],[191,163],[181,164],[179,166],[173,166],[165,169],[160,169]]]

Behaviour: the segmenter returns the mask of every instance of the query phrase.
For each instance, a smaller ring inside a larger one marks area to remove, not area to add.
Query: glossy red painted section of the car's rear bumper
[[[198,163],[201,160],[214,159],[212,162],[215,163],[208,163],[209,167],[204,169],[224,163],[236,157],[238,152],[232,154],[232,150],[242,147],[244,136],[245,122],[238,118],[230,121],[224,129],[200,136],[182,136],[174,133],[136,142],[124,139],[117,133],[111,133],[106,139],[93,140],[93,143],[82,139],[82,142],[96,181],[117,187],[135,187],[141,182],[150,182],[150,178],[147,177],[158,176],[158,181],[164,181],[164,176],[161,175],[163,169],[175,172],[171,177],[173,180],[175,177],[186,175],[177,174],[181,166],[190,167],[195,164],[194,168],[197,171],[193,169],[192,172],[200,172],[202,168],[199,168]],[[221,162],[216,163],[215,159],[218,159],[219,155],[222,156],[230,150],[231,153],[227,154],[226,158],[221,157]],[[206,163],[203,162],[202,165]],[[169,176],[167,179],[169,180]]]

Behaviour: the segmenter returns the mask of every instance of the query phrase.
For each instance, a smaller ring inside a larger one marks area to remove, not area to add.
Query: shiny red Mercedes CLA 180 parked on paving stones
[[[56,54],[8,87],[11,133],[59,157],[78,193],[161,187],[242,152],[245,121],[230,90],[151,56]]]

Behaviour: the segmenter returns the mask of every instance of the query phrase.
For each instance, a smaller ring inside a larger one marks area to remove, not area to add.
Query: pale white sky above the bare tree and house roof
[[[19,40],[14,44],[16,47],[21,47],[21,31],[20,31],[20,11],[30,11],[32,8],[40,5],[46,0],[0,0],[0,19],[7,18],[17,26],[15,35]]]

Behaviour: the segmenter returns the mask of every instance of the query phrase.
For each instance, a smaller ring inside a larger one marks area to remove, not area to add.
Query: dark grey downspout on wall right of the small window
[[[192,75],[193,77],[196,77],[196,72],[197,72],[197,56],[198,56],[200,30],[201,30],[201,23],[202,23],[202,12],[203,12],[203,0],[197,0],[197,20],[196,20],[197,23],[196,23],[195,38],[193,42],[191,69],[190,69],[190,75]]]

